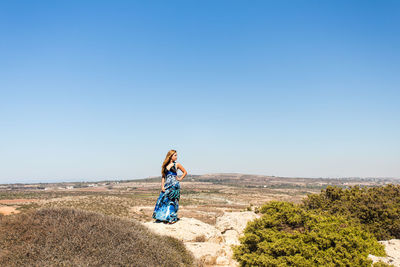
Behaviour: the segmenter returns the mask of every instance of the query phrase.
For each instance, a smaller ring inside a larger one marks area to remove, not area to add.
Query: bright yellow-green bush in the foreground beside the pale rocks
[[[241,266],[370,266],[368,254],[385,255],[372,234],[343,217],[278,201],[260,212],[233,247]]]

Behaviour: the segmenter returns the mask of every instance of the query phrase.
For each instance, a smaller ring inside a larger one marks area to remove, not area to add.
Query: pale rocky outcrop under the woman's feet
[[[205,266],[238,266],[232,259],[231,246],[239,244],[238,238],[247,222],[257,217],[259,215],[251,211],[225,212],[217,218],[215,226],[185,217],[174,224],[143,224],[155,233],[182,240]]]

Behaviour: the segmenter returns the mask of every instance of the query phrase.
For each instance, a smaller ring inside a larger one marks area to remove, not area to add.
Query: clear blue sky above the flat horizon
[[[0,183],[400,177],[399,1],[1,1]]]

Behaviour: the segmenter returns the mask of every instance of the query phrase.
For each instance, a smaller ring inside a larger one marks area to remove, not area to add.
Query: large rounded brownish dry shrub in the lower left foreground
[[[133,220],[44,208],[0,216],[0,266],[192,266],[172,237]]]

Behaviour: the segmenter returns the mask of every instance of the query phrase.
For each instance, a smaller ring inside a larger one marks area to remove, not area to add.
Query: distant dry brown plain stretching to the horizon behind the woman
[[[293,178],[219,173],[187,175],[181,182],[180,215],[207,223],[223,211],[251,209],[270,200],[299,203],[327,186],[400,184],[397,178]],[[18,213],[40,207],[72,207],[150,221],[161,177],[98,182],[0,185],[0,211]]]

